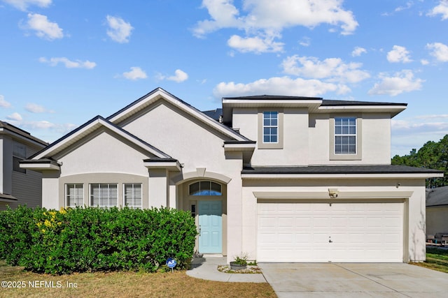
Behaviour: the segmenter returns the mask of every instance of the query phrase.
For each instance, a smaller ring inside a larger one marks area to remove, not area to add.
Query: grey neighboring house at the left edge
[[[0,210],[18,205],[42,205],[41,174],[20,167],[19,162],[40,151],[48,143],[0,121]]]

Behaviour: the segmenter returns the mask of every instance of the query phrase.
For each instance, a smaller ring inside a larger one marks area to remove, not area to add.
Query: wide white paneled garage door
[[[402,262],[402,202],[258,203],[258,262]]]

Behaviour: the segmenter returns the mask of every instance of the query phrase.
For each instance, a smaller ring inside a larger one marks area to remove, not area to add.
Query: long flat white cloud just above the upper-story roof
[[[292,79],[290,77],[271,77],[256,80],[248,84],[221,82],[214,88],[216,98],[228,96],[251,96],[260,94],[282,94],[290,96],[319,96],[328,91],[344,94],[348,89],[344,85],[325,83],[320,80]]]

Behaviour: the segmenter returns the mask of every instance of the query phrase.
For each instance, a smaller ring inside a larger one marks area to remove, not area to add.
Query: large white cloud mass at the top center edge
[[[232,36],[228,45],[245,52],[280,52],[281,31],[288,27],[314,28],[320,24],[340,27],[343,35],[351,34],[358,27],[353,13],[342,8],[341,0],[246,0],[242,10],[232,0],[203,0],[210,19],[197,22],[193,34],[203,38],[208,33],[223,28],[240,29],[246,37]]]

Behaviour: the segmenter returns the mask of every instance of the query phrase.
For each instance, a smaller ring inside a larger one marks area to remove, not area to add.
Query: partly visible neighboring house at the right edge
[[[426,189],[426,234],[448,232],[448,186]]]

